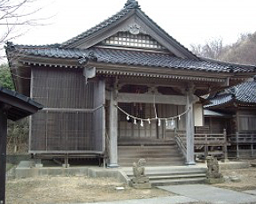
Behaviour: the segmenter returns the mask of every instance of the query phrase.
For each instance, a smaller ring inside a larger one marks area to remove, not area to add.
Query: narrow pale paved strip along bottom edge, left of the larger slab
[[[190,199],[185,196],[167,196],[167,197],[158,197],[158,198],[151,198],[151,199],[94,202],[93,204],[184,204],[184,203],[191,203],[191,204],[198,203],[198,200]],[[80,204],[91,204],[91,202],[80,203]]]

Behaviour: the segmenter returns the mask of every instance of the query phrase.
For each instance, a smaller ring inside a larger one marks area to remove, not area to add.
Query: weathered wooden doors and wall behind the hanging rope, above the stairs
[[[129,107],[129,109],[137,109],[136,106],[138,106],[138,104],[119,103],[119,106],[123,110],[126,109],[125,108],[126,106]],[[156,108],[158,112],[158,117],[175,117],[185,111],[184,106],[170,105],[170,104],[157,104]],[[144,116],[141,116],[142,118],[155,117],[153,104],[144,103],[143,109],[144,109],[144,114],[143,114]],[[131,113],[134,113],[134,112],[136,111],[131,111]],[[135,113],[131,115],[136,116]],[[180,120],[178,118],[175,119],[175,129],[173,130],[167,129],[166,121],[164,120],[161,120],[160,126],[158,126],[157,120],[151,121],[151,124],[149,124],[148,122],[144,122],[144,126],[141,126],[140,125],[141,122],[139,120],[136,121],[136,125],[135,125],[133,120],[127,121],[126,115],[123,115],[119,111],[118,136],[120,139],[121,138],[165,139],[166,137],[175,136],[175,131],[179,131],[179,130],[185,131],[185,128],[186,128],[185,122],[186,122],[185,115],[183,115]]]

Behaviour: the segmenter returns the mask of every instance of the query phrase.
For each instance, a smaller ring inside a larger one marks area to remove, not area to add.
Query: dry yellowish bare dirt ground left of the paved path
[[[116,190],[124,187],[124,190]],[[157,188],[136,190],[114,178],[45,177],[7,181],[7,204],[81,203],[172,196]]]

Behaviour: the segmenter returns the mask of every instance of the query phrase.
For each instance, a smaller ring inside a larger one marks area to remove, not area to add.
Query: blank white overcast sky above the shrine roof
[[[40,0],[39,18],[50,25],[36,26],[12,40],[19,44],[61,43],[112,16],[127,0]],[[151,19],[187,48],[222,38],[236,42],[239,34],[256,31],[255,0],[138,0]],[[40,5],[40,6],[41,6]]]

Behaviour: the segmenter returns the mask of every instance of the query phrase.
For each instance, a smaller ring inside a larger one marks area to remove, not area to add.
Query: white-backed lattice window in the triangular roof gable
[[[151,38],[147,34],[130,34],[128,32],[120,32],[107,38],[102,42],[104,45],[116,45],[144,49],[165,49],[159,42]]]

